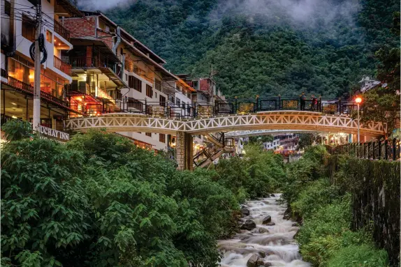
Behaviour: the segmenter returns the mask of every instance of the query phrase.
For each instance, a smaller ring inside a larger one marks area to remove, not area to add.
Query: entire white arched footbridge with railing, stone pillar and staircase
[[[104,109],[100,116],[66,120],[66,128],[78,132],[105,129],[109,132],[159,132],[175,135],[176,160],[179,169],[205,166],[232,148],[233,137],[223,132],[247,131],[245,135],[263,135],[265,132],[344,132],[356,134],[358,121],[351,118],[355,111],[353,101],[321,100],[313,98],[256,98],[256,100],[216,100],[175,105],[166,102],[119,102],[114,110]],[[132,103],[131,103],[132,104]],[[109,112],[109,113],[108,113]],[[256,132],[252,134],[252,132]],[[262,133],[263,132],[263,133]],[[379,137],[386,125],[379,122],[361,123],[360,135]],[[194,155],[192,135],[205,135],[210,142]],[[227,142],[229,141],[229,142]],[[228,143],[231,142],[231,145]],[[231,148],[230,148],[231,147]],[[228,148],[228,149],[227,149]]]

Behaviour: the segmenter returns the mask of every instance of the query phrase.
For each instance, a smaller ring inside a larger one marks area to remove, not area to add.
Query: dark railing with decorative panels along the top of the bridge
[[[256,99],[215,100],[210,102],[173,103],[149,100],[136,100],[134,98],[100,99],[96,112],[92,109],[84,115],[107,114],[113,112],[127,112],[160,116],[174,119],[208,118],[210,116],[228,114],[254,114],[257,112],[300,110],[309,112],[322,112],[323,114],[351,115],[356,110],[356,103],[344,100],[322,100],[321,98],[291,98],[272,97]],[[360,108],[363,112],[363,107]]]

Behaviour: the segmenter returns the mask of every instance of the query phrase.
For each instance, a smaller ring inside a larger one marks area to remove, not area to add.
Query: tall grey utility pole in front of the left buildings
[[[41,125],[41,49],[39,48],[39,36],[42,32],[42,3],[36,4],[36,40],[35,40],[35,86],[34,86],[34,131]]]

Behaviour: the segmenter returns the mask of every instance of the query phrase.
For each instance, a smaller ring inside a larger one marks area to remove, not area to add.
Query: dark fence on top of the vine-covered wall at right
[[[398,160],[401,154],[400,139],[343,144],[331,148],[332,155],[353,155],[369,160]]]

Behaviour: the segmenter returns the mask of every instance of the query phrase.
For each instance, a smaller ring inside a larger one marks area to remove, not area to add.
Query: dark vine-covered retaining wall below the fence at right
[[[400,264],[400,162],[328,158],[331,183],[352,195],[353,229],[370,228],[377,246]]]

